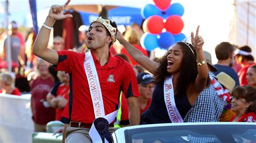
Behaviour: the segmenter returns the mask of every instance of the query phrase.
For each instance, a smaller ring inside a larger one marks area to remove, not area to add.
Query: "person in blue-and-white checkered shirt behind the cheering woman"
[[[217,68],[212,65],[211,54],[204,51],[204,55],[211,84],[200,93],[197,101],[194,103],[190,111],[188,111],[184,119],[185,122],[219,121],[224,105],[226,104],[225,99],[221,97],[220,94],[224,92],[224,88],[212,73],[213,71],[217,71]]]

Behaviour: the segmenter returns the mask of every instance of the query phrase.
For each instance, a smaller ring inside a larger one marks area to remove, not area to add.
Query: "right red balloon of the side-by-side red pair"
[[[179,34],[183,27],[184,23],[180,16],[173,15],[166,19],[165,29],[172,34]]]

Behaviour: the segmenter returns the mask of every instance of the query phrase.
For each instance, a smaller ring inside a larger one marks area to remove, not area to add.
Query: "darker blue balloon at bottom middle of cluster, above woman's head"
[[[172,44],[174,44],[174,36],[173,34],[171,34],[170,32],[164,32],[164,33],[161,33],[159,36],[158,36],[158,45],[160,46],[160,48],[163,48],[163,49],[169,49]]]

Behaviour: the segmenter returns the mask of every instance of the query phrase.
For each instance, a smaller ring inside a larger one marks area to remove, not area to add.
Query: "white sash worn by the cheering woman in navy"
[[[164,81],[164,101],[172,123],[183,123],[183,119],[180,116],[174,100],[172,76],[165,78]]]

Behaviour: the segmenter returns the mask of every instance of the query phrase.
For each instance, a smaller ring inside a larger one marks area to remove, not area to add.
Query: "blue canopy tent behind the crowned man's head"
[[[90,13],[79,11],[84,25],[89,25],[93,19],[96,19],[99,15],[97,13]],[[108,11],[109,19],[116,22],[117,25],[132,25],[137,23],[142,24],[143,18],[140,15],[140,9],[138,8],[129,8],[129,7],[118,7],[113,8]]]

